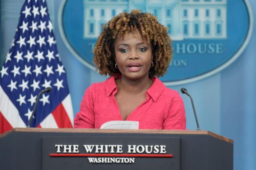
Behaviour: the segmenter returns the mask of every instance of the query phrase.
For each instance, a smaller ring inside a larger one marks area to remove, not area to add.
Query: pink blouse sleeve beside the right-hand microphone
[[[163,121],[163,129],[186,130],[186,115],[183,100],[176,92],[167,107],[167,116]]]

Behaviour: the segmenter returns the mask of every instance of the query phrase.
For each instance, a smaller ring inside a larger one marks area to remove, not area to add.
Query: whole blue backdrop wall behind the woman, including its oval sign
[[[1,66],[22,4],[1,0]],[[151,12],[174,40],[174,61],[162,80],[177,91],[189,90],[201,129],[234,139],[234,170],[256,169],[255,0],[47,0],[47,5],[74,113],[84,90],[106,79],[91,60],[101,24],[125,10]],[[190,100],[182,98],[187,128],[196,129]]]

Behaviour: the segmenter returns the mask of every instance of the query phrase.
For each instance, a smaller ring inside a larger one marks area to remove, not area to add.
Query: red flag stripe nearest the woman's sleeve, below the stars
[[[56,124],[58,127],[71,127],[72,124],[70,118],[67,115],[66,110],[64,109],[62,103],[60,103],[55,110],[52,112],[52,116],[54,117]]]

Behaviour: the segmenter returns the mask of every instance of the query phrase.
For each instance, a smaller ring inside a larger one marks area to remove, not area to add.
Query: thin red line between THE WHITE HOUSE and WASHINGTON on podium
[[[95,157],[173,157],[172,154],[95,154],[95,153],[87,153],[87,154],[74,154],[74,153],[50,153],[50,156],[71,156],[71,157],[79,157],[79,156],[95,156]]]

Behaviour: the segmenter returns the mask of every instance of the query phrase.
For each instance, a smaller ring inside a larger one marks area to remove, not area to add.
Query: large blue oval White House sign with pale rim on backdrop
[[[95,70],[92,49],[102,25],[131,9],[150,12],[169,28],[173,40],[173,61],[161,80],[167,85],[187,83],[224,69],[247,45],[252,31],[250,5],[247,0],[229,1],[67,0],[62,16],[69,17],[61,18],[64,40],[80,61]]]

